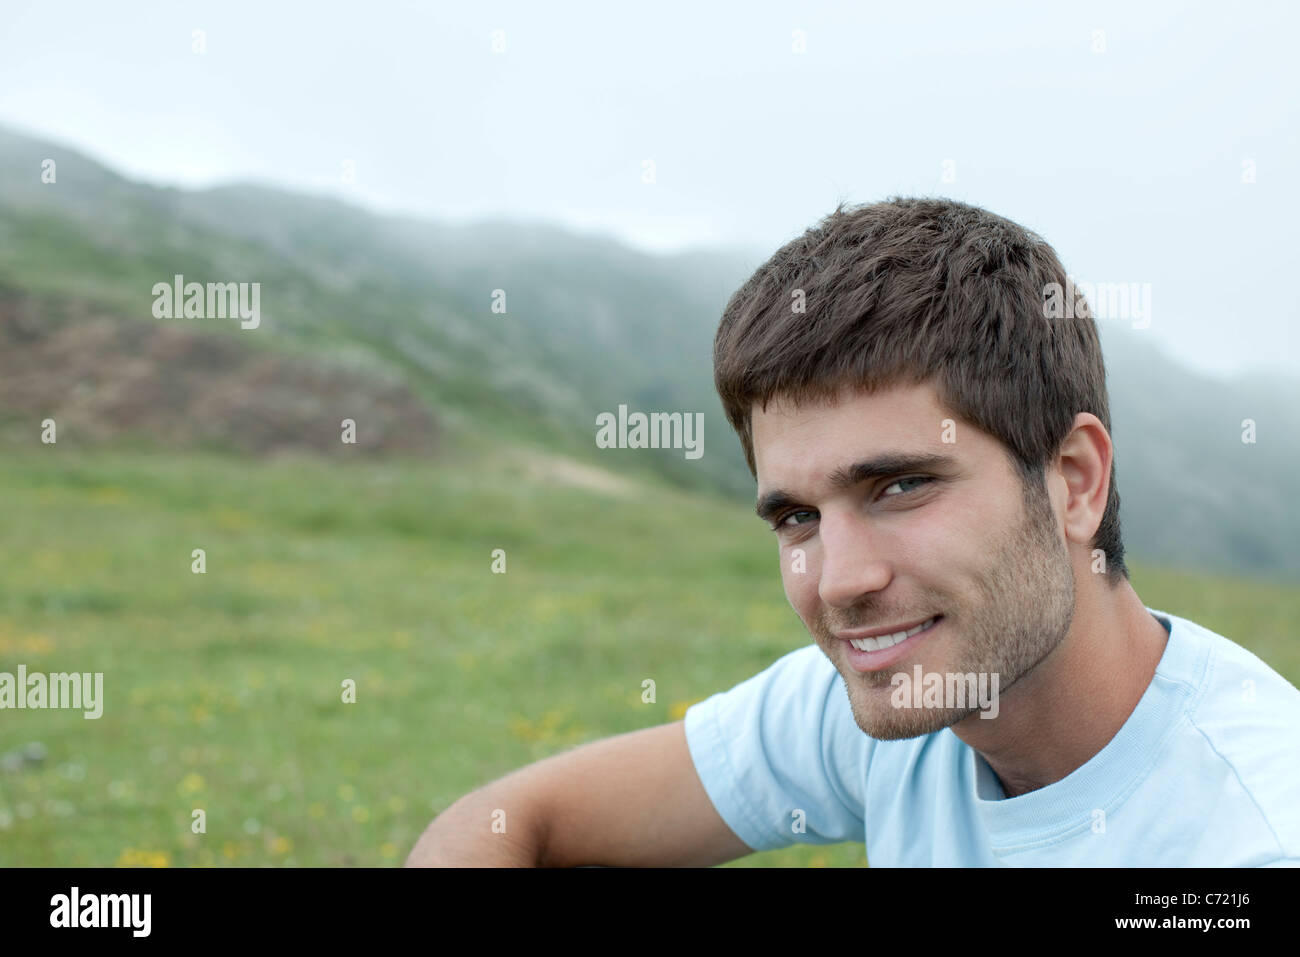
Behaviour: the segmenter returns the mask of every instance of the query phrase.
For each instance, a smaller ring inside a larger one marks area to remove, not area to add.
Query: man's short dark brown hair
[[[835,212],[780,250],[732,295],[714,338],[714,384],[754,463],[750,412],[841,387],[935,382],[940,400],[997,438],[1027,485],[1074,416],[1110,430],[1097,325],[1044,307],[1069,287],[1037,234],[966,203],[893,198]],[[796,308],[802,303],[803,308]],[[1128,577],[1114,462],[1093,538],[1112,584]]]

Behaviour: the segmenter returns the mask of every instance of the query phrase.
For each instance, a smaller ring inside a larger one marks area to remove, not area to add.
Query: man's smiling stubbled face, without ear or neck
[[[927,735],[979,707],[896,707],[896,674],[997,675],[1005,694],[1066,636],[1074,572],[1046,492],[1026,493],[997,439],[944,410],[932,386],[753,412],[785,596],[866,733]],[[850,644],[930,622],[893,645]]]

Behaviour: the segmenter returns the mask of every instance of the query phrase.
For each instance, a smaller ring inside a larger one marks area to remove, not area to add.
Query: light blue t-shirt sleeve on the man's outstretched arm
[[[696,771],[754,850],[864,840],[862,783],[874,739],[816,645],[686,710]]]

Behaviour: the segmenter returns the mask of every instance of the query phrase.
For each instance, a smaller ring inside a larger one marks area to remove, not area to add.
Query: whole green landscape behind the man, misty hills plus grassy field
[[[0,866],[396,863],[468,789],[807,644],[711,387],[758,264],[160,189],[0,130],[0,671],[103,671],[108,698],[5,713]],[[176,273],[260,282],[261,326],[160,325]],[[1106,343],[1140,594],[1296,681],[1295,385]],[[598,451],[620,403],[703,412],[705,456]]]

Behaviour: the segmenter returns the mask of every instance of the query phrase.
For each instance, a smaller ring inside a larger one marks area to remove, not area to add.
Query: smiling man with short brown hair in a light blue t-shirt
[[[1044,308],[1065,282],[946,200],[841,205],[779,250],[715,382],[815,644],[462,798],[408,862],[1300,863],[1300,692],[1132,589],[1096,324]]]

